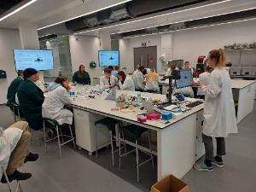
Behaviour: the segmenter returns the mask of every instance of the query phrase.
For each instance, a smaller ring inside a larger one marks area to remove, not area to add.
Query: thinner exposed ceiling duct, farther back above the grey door
[[[213,16],[213,17],[200,19],[200,20],[190,20],[187,22],[181,22],[181,23],[170,24],[165,26],[157,26],[157,27],[152,27],[147,29],[140,29],[132,32],[117,33],[117,34],[112,34],[111,38],[113,39],[131,38],[134,36],[150,35],[150,34],[157,34],[162,32],[174,32],[181,29],[189,29],[189,28],[195,28],[199,26],[217,25],[220,23],[227,23],[227,22],[232,22],[236,20],[248,20],[252,18],[256,18],[256,9],[241,11],[241,12],[227,14],[227,15],[218,15],[218,16]]]

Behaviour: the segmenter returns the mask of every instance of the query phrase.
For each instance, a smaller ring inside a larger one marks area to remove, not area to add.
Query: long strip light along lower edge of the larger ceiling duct
[[[217,2],[217,3],[210,3],[210,4],[206,4],[206,5],[201,5],[201,6],[198,6],[198,7],[195,7],[195,8],[178,10],[178,11],[174,11],[172,13],[166,13],[166,14],[163,14],[163,15],[155,15],[155,16],[143,18],[143,19],[140,19],[140,20],[132,20],[132,21],[125,22],[125,23],[119,23],[119,24],[116,24],[116,25],[113,25],[113,26],[123,26],[123,25],[126,25],[126,24],[135,23],[135,22],[142,21],[142,20],[149,20],[149,19],[154,19],[156,17],[160,17],[160,16],[182,13],[182,12],[186,12],[186,11],[189,11],[189,10],[205,8],[205,7],[208,7],[208,6],[211,6],[211,5],[215,5],[215,4],[219,4],[219,3],[226,3],[226,2],[230,2],[230,1],[232,1],[232,0],[224,0],[224,1],[221,1],[221,2]],[[110,27],[113,27],[113,26],[103,26],[103,27],[96,28],[96,29],[91,29],[91,30],[88,30],[88,31],[85,31],[85,32],[93,32],[93,31],[96,31],[96,30],[106,29],[106,28],[110,28]],[[150,26],[150,27],[154,27],[154,26]],[[150,27],[148,27],[148,28],[150,28]],[[76,33],[74,33],[74,35],[78,35],[78,34],[81,34],[81,33],[84,33],[84,32],[76,32]]]

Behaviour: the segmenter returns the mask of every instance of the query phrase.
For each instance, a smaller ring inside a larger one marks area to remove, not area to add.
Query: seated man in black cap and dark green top
[[[28,125],[35,131],[43,128],[42,105],[44,103],[44,92],[35,82],[39,79],[38,71],[34,68],[26,68],[24,81],[20,83],[17,96],[20,109]]]

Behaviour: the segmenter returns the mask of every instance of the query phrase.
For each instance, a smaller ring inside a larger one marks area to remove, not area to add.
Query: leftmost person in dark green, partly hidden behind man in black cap
[[[15,78],[11,84],[9,84],[9,88],[7,91],[7,106],[13,111],[13,104],[18,104],[15,101],[15,96],[17,90],[20,86],[20,83],[23,81],[23,71],[18,71],[18,77]],[[17,114],[17,112],[15,111]]]

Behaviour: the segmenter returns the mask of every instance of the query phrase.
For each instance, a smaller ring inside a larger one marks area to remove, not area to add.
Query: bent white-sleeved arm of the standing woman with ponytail
[[[211,83],[207,86],[201,85],[201,89],[203,90],[206,96],[216,98],[222,90],[222,84],[218,76],[216,74],[212,74]]]

